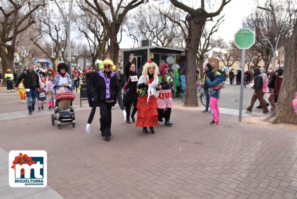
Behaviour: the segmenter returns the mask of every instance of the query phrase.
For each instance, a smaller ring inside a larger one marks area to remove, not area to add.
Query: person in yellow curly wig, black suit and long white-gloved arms
[[[102,136],[108,141],[111,136],[111,107],[118,101],[120,108],[123,110],[124,117],[126,112],[124,110],[123,99],[121,95],[121,87],[119,79],[114,70],[116,67],[112,60],[105,59],[100,66],[102,72],[88,72],[86,73],[87,95],[89,105],[92,110],[86,126],[86,132],[90,132],[90,125],[93,120],[96,107],[100,107],[100,130]],[[126,120],[126,118],[124,118]]]

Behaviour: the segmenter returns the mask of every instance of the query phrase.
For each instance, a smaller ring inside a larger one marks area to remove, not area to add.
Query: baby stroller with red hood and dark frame
[[[66,88],[66,87],[65,87]],[[51,114],[51,124],[54,125],[54,120],[58,120],[58,128],[61,128],[61,122],[71,122],[72,127],[75,127],[75,116],[73,109],[73,100],[75,98],[73,92],[60,92],[56,94],[54,90],[55,108]]]

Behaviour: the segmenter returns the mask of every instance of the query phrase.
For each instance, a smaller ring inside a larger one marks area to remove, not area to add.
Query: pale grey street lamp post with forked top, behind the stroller
[[[58,6],[64,23],[65,23],[65,27],[66,27],[66,34],[67,34],[67,57],[68,57],[68,74],[70,75],[70,77],[72,78],[72,68],[71,68],[71,48],[70,48],[70,26],[71,26],[71,14],[72,14],[72,5],[73,5],[73,0],[70,1],[70,7],[69,7],[69,15],[68,15],[68,23],[66,21],[66,17],[65,14],[63,12],[63,10],[61,9],[61,7],[59,6],[59,4],[57,3],[56,0],[51,0],[54,1],[56,3],[56,5]],[[73,91],[73,86],[71,87],[71,92]]]

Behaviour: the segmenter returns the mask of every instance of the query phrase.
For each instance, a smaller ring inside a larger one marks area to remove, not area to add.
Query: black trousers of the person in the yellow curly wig
[[[110,127],[111,127],[111,107],[113,103],[108,103],[105,101],[98,101],[100,107],[100,130],[102,137],[110,136]]]

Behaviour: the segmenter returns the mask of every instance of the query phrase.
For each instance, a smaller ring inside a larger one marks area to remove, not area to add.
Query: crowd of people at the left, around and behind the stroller
[[[54,88],[56,93],[69,91],[74,84],[74,89],[77,91],[80,84],[85,83],[85,75],[91,69],[73,68],[72,77],[67,73],[68,65],[63,61],[56,65],[55,72],[52,67],[48,67],[44,72],[42,68],[36,68],[36,64],[30,63],[28,68],[17,68],[14,72],[7,69],[4,74],[7,83],[7,92],[14,92],[13,82],[15,82],[15,89],[20,97],[21,103],[27,103],[29,114],[35,110],[35,103],[38,103],[38,110],[43,110],[43,104],[48,98],[48,109],[54,108],[53,94]],[[2,74],[2,73],[1,73]],[[63,83],[63,85],[61,85]]]

